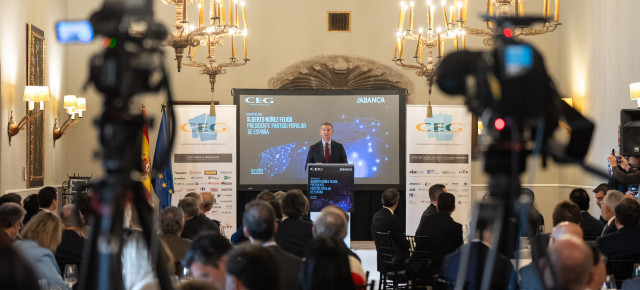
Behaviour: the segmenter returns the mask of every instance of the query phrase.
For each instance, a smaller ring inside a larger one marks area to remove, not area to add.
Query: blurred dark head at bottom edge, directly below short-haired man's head
[[[229,253],[227,262],[227,290],[278,290],[282,277],[280,265],[274,265],[271,251],[245,243]],[[297,274],[297,272],[296,272]],[[289,285],[290,286],[290,285]]]

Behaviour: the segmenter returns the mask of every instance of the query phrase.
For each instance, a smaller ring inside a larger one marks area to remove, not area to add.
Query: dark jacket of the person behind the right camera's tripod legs
[[[467,287],[465,287],[465,289],[480,289],[482,285],[480,280],[482,279],[486,258],[489,254],[489,247],[481,242],[471,242],[471,244],[466,244],[462,246],[460,250],[446,256],[444,258],[444,264],[442,265],[442,277],[447,283],[451,285],[455,284],[458,277],[458,266],[460,265],[462,250],[466,247],[471,247],[471,255],[469,256],[469,266],[465,280]],[[515,275],[516,272],[513,270],[511,261],[498,253],[493,267],[493,275],[489,289],[509,289],[509,280],[511,277],[515,279]]]

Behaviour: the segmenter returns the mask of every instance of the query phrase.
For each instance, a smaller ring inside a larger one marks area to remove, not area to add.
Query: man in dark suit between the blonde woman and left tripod
[[[80,213],[78,214],[80,215]],[[60,245],[56,249],[56,261],[61,271],[64,271],[66,264],[76,264],[79,269],[82,262],[82,249],[86,240],[83,232],[84,217],[80,216],[80,220],[78,220],[75,205],[67,204],[60,210],[60,218],[64,229]]]

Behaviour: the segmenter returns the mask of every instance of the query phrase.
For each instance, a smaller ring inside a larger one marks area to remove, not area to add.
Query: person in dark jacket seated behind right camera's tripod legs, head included
[[[450,285],[455,285],[458,277],[458,269],[462,253],[465,250],[469,252],[469,262],[467,263],[465,289],[480,289],[482,285],[482,273],[487,263],[487,256],[493,237],[493,221],[480,219],[476,225],[476,233],[473,240],[463,245],[459,250],[446,256],[442,266],[442,277]],[[491,284],[489,289],[511,289],[510,281],[516,281],[516,273],[513,269],[511,261],[500,253],[496,253],[496,259],[493,265],[493,273],[491,275]],[[514,282],[515,284],[515,282]]]

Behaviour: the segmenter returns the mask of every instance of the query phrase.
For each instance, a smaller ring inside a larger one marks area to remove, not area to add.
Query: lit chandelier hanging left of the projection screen
[[[249,61],[245,3],[229,0],[229,5],[225,7],[224,0],[210,0],[209,9],[205,9],[204,0],[161,1],[164,4],[174,4],[176,8],[176,31],[169,35],[167,45],[175,50],[178,71],[182,69],[182,65],[199,68],[200,74],[207,75],[209,78],[213,98],[217,75],[225,74],[226,68],[243,66]],[[195,21],[192,24],[188,20],[189,5],[198,7],[197,25]],[[240,26],[239,10],[242,13],[242,26]],[[205,19],[205,14],[208,14],[208,19]],[[236,58],[235,42],[239,37],[242,37],[244,43],[242,59]],[[230,42],[231,57],[226,62],[217,62],[216,47],[222,46],[226,41]],[[199,47],[203,47],[206,52],[206,58],[203,60],[196,58]],[[187,50],[186,56],[185,50]]]

